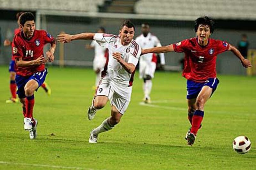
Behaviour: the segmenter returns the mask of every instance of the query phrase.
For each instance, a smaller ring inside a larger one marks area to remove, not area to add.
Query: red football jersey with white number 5
[[[217,55],[227,51],[228,48],[229,44],[226,41],[211,38],[204,47],[198,44],[196,37],[173,44],[175,52],[185,53],[185,68],[182,76],[196,82],[216,78]]]

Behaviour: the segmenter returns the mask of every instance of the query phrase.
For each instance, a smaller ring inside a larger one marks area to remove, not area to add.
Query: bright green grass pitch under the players
[[[256,77],[222,76],[205,107],[203,128],[195,144],[184,140],[187,120],[186,80],[180,73],[156,72],[151,105],[140,105],[142,81],[134,80],[132,100],[121,122],[89,144],[91,129],[110,115],[110,106],[87,119],[94,94],[91,69],[49,67],[43,89],[35,94],[38,136],[23,129],[20,104],[10,97],[7,66],[0,67],[0,169],[255,169]],[[249,153],[233,151],[232,141],[245,135]]]

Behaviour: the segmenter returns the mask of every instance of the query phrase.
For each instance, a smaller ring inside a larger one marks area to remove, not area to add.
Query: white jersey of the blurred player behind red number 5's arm
[[[154,47],[162,47],[160,41],[155,35],[148,33],[146,37],[143,34],[139,35],[136,39],[136,42],[140,45],[142,49],[154,48]],[[152,53],[141,55],[140,60],[145,62],[152,61]],[[165,64],[164,53],[160,54],[160,62],[161,64]]]

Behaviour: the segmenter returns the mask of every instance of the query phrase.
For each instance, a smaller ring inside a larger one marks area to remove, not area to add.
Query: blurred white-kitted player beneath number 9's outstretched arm
[[[99,27],[97,33],[105,33],[105,28]],[[85,47],[87,49],[94,49],[93,70],[96,73],[96,80],[94,86],[94,88],[96,89],[96,87],[99,85],[101,78],[100,72],[104,69],[106,63],[105,53],[107,48],[100,47],[100,45],[95,40],[92,41],[90,45],[86,44]]]

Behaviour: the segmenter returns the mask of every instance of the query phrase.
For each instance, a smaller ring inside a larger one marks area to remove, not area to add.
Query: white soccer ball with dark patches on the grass
[[[246,136],[236,137],[233,141],[233,149],[237,153],[244,154],[250,151],[251,142]]]

